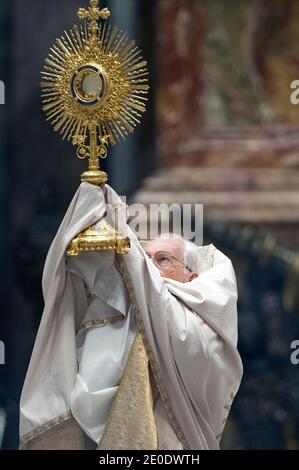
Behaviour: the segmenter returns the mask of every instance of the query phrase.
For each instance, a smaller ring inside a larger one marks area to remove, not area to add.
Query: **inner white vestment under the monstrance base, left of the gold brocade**
[[[85,253],[70,258],[67,265],[68,272],[84,280],[92,298],[76,338],[79,369],[70,409],[86,434],[99,443],[137,322],[113,253]]]

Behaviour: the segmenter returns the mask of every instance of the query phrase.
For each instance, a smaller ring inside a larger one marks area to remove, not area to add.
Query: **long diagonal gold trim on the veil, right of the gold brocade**
[[[177,435],[178,439],[180,440],[180,442],[182,443],[184,450],[190,450],[191,447],[188,444],[187,439],[184,435],[184,432],[183,432],[183,430],[182,430],[182,428],[181,428],[181,426],[180,426],[180,424],[179,424],[179,422],[178,422],[178,420],[175,416],[175,413],[173,411],[172,405],[171,405],[169,397],[168,397],[168,393],[167,393],[165,385],[164,385],[164,380],[162,378],[161,371],[160,371],[159,366],[157,364],[154,353],[152,352],[152,348],[150,346],[150,343],[147,339],[147,335],[146,335],[145,328],[144,328],[144,323],[143,323],[143,318],[142,318],[142,315],[141,315],[141,312],[140,312],[140,309],[139,309],[139,305],[138,305],[138,302],[137,302],[137,299],[136,299],[136,296],[135,296],[134,288],[133,288],[132,281],[131,281],[131,278],[129,276],[127,267],[126,267],[125,262],[124,262],[124,260],[121,256],[118,256],[117,259],[119,260],[119,268],[120,268],[121,273],[124,277],[126,286],[128,288],[129,296],[130,296],[132,305],[133,305],[134,310],[135,310],[135,314],[136,314],[136,318],[137,318],[137,321],[138,321],[138,325],[139,325],[140,333],[141,333],[141,336],[142,336],[143,344],[145,346],[147,357],[149,358],[149,362],[150,362],[150,365],[151,365],[151,368],[152,368],[152,372],[153,372],[153,375],[155,377],[157,387],[159,389],[162,401],[165,405],[166,411],[167,411],[168,416],[171,420],[171,423],[174,427],[176,435]]]

